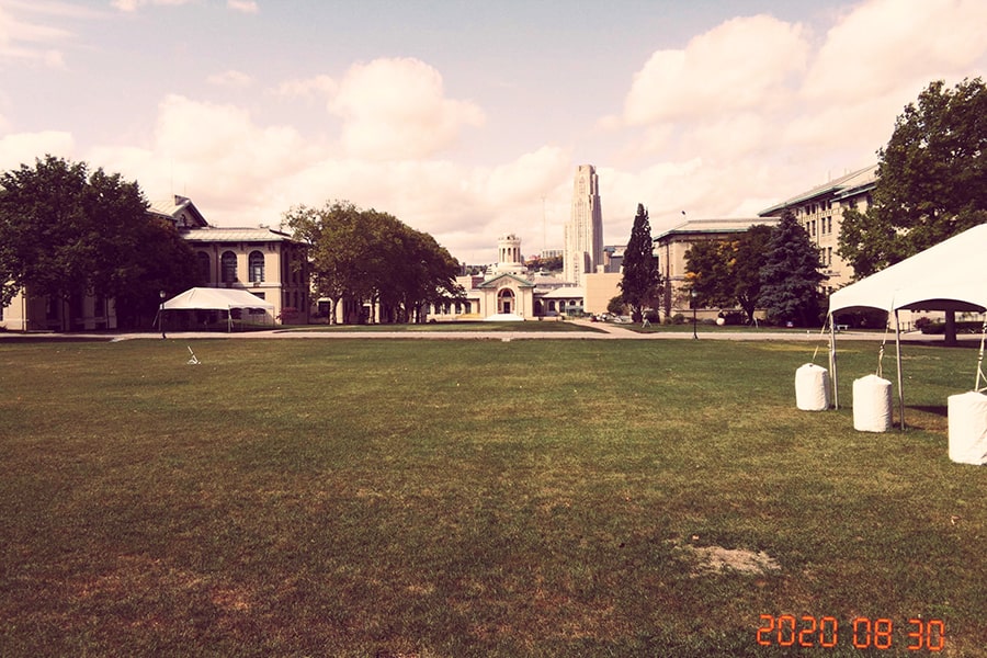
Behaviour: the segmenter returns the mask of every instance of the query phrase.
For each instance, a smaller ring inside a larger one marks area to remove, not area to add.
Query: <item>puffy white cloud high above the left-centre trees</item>
[[[329,110],[343,118],[348,152],[372,159],[431,157],[485,121],[474,103],[445,98],[439,71],[408,58],[353,66]]]

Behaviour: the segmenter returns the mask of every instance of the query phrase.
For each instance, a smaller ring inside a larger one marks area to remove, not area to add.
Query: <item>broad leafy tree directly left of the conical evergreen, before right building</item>
[[[733,240],[696,242],[685,252],[685,277],[695,291],[696,304],[721,308],[739,306],[748,320],[761,295],[771,227],[752,226]]]

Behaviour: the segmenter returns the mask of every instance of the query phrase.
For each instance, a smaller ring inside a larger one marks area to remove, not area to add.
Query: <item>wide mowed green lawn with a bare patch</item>
[[[987,655],[976,351],[814,348],[0,340],[0,655]]]

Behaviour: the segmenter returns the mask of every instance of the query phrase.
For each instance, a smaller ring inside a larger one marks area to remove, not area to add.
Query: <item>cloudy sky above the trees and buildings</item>
[[[983,0],[0,0],[0,170],[53,155],[215,226],[349,201],[463,262],[752,217],[877,161]]]

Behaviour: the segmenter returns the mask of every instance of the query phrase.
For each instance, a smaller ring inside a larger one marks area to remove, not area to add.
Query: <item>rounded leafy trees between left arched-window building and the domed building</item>
[[[316,293],[330,300],[330,322],[343,298],[379,305],[382,321],[408,322],[421,319],[422,305],[462,294],[460,266],[449,251],[393,215],[332,201],[293,207],[284,218],[309,246]]]

